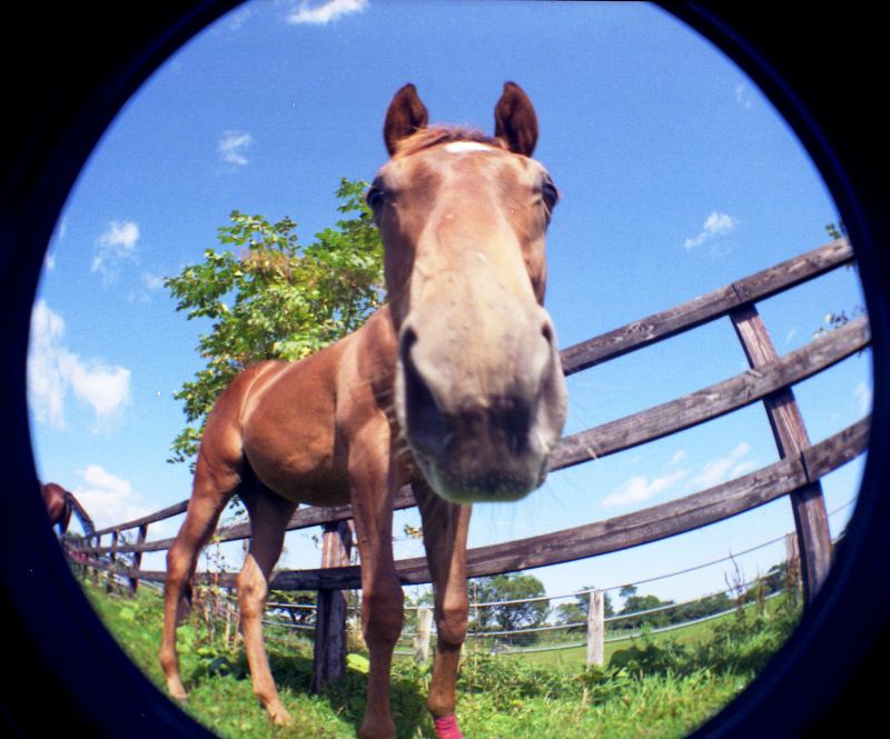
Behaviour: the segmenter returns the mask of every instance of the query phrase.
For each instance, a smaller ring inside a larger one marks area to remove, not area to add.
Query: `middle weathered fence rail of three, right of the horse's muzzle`
[[[630,449],[736,410],[815,375],[870,341],[864,318],[809,342],[761,368],[736,375],[649,410],[563,438],[551,455],[558,470]]]

